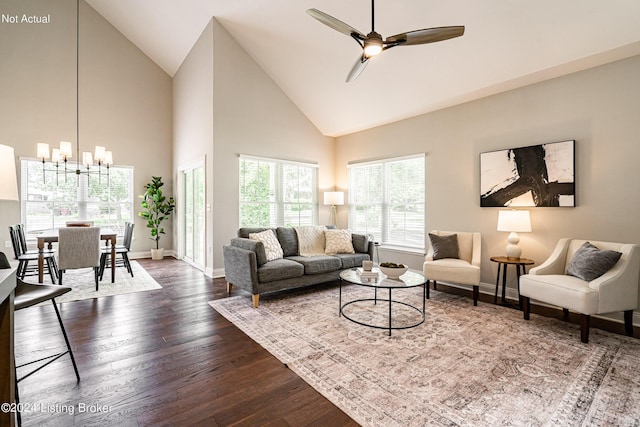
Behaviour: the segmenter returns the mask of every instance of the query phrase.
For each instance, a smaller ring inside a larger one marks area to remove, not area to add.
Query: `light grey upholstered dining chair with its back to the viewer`
[[[93,268],[98,290],[100,270],[100,228],[65,227],[58,230],[58,279],[66,270]]]

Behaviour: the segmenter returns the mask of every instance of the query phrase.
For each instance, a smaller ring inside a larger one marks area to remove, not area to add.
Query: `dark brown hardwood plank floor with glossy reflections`
[[[22,381],[24,426],[357,425],[207,304],[223,279],[138,262],[161,290],[60,305],[81,381],[68,356]],[[50,305],[15,323],[18,364],[64,347]]]

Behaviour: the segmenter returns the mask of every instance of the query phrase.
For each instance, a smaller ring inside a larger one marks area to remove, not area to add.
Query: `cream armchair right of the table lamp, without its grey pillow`
[[[566,274],[573,255],[587,240],[561,239],[540,266],[520,277],[524,318],[529,320],[530,299],[580,313],[580,339],[589,342],[590,315],[624,312],[625,332],[633,335],[633,310],[638,306],[640,245],[589,241],[600,250],[621,252],[618,262],[602,276],[587,282]]]

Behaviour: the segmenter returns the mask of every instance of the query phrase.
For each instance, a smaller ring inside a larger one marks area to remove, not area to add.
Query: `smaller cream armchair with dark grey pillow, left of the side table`
[[[477,232],[438,231],[429,233],[429,251],[422,270],[435,289],[438,281],[471,285],[473,305],[478,305],[480,294],[481,235]]]

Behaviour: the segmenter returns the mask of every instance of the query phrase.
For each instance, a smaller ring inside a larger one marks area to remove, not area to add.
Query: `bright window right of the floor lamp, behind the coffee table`
[[[423,249],[424,188],[424,155],[349,165],[349,227]]]

